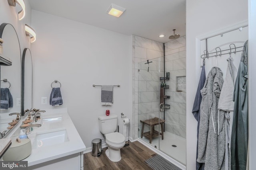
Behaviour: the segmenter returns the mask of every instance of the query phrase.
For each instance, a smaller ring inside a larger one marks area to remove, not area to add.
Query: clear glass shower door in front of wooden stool
[[[142,61],[138,69],[138,137],[159,149],[161,126],[160,77],[164,76],[164,59]]]

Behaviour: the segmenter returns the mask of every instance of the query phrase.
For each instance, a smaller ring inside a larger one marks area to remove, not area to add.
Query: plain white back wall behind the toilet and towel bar
[[[118,115],[122,132],[120,113],[132,120],[132,35],[35,10],[32,10],[32,26],[37,33],[32,44],[33,107],[68,107],[86,148],[92,146],[93,139],[103,139],[98,116],[104,115],[106,109]],[[54,80],[61,83],[63,105],[59,107],[49,104]],[[114,87],[114,104],[101,106],[101,88],[92,84],[119,84],[120,88]],[[41,97],[48,98],[46,105],[41,104]]]

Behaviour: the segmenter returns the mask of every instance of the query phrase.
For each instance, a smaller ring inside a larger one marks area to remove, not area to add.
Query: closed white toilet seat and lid
[[[105,135],[106,143],[112,147],[123,147],[125,144],[125,137],[121,133],[112,132]]]

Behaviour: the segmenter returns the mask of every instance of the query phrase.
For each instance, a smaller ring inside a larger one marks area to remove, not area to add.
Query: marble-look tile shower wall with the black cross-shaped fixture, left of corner
[[[158,117],[159,77],[164,76],[163,56],[163,43],[133,35],[133,139],[140,136],[140,120]],[[145,64],[147,60],[152,63]],[[149,131],[148,126],[144,126],[146,131]]]

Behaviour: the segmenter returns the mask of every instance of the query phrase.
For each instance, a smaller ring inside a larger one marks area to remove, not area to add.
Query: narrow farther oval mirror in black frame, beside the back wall
[[[25,48],[22,54],[22,87],[21,87],[21,113],[24,110],[32,109],[32,55],[28,48]],[[26,112],[28,113],[28,112]]]

